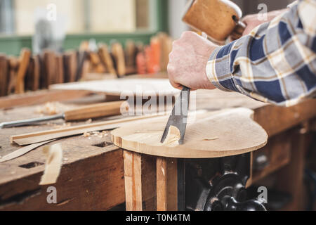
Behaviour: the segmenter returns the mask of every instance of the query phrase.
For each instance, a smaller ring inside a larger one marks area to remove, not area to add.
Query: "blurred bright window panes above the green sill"
[[[0,0],[0,34],[32,35],[55,6],[67,34],[152,30],[153,0]]]

